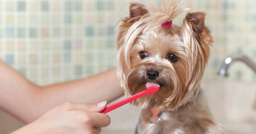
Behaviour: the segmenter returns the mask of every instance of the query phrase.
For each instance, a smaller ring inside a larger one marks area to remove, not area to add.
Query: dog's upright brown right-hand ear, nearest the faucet
[[[192,26],[194,34],[201,36],[204,28],[204,21],[206,18],[207,12],[192,12],[188,13],[185,17],[188,23]]]

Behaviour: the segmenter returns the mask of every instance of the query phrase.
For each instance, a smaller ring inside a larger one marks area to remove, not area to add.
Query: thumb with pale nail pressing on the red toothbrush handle
[[[103,109],[106,108],[107,101],[102,101],[97,104],[95,103],[86,103],[86,104],[78,104],[76,106],[79,110],[85,110],[90,112],[101,112]]]

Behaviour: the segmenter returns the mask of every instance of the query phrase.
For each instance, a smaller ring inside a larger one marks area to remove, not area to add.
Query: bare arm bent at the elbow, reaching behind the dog
[[[26,123],[64,102],[97,103],[123,95],[116,69],[85,79],[37,86],[0,61],[0,108]]]

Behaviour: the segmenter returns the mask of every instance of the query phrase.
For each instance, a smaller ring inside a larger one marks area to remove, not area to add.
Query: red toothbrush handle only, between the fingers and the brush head
[[[112,110],[114,110],[114,109],[116,109],[116,108],[118,108],[118,107],[121,107],[121,106],[123,106],[124,104],[127,104],[127,103],[129,103],[129,102],[132,102],[132,101],[136,100],[137,98],[142,97],[142,96],[144,96],[144,95],[146,95],[146,94],[148,94],[147,90],[144,90],[144,91],[142,91],[142,92],[139,92],[139,93],[137,93],[137,94],[135,94],[135,95],[133,95],[133,96],[130,96],[130,97],[124,99],[124,100],[121,100],[121,101],[119,101],[119,102],[116,102],[116,103],[114,103],[114,104],[111,104],[110,106],[107,106],[104,110],[101,111],[101,113],[108,113],[108,112],[110,112],[110,111],[112,111]]]

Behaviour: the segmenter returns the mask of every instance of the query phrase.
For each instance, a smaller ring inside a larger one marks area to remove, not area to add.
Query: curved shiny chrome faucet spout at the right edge
[[[245,63],[246,65],[248,65],[252,70],[254,70],[254,72],[256,72],[256,63],[254,63],[253,60],[251,60],[250,58],[248,58],[246,55],[244,54],[239,54],[239,53],[234,53],[231,54],[229,57],[227,57],[219,70],[219,75],[228,76],[228,69],[229,66],[234,62],[234,61],[241,61],[243,63]]]

